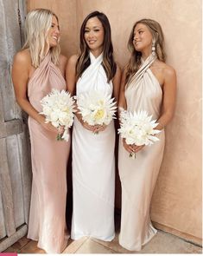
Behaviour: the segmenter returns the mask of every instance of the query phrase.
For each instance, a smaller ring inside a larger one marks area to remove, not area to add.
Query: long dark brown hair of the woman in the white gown
[[[104,45],[103,45],[103,62],[102,65],[105,69],[105,74],[107,76],[107,81],[110,82],[111,79],[114,77],[117,71],[117,64],[113,58],[113,46],[111,43],[111,26],[107,16],[104,13],[99,11],[93,11],[88,16],[86,16],[84,22],[81,25],[80,29],[80,54],[78,58],[78,62],[76,64],[76,78],[83,74],[83,72],[89,67],[90,65],[90,55],[89,55],[89,48],[86,44],[85,40],[85,30],[86,30],[86,23],[92,17],[98,17],[98,20],[102,23],[104,28]]]

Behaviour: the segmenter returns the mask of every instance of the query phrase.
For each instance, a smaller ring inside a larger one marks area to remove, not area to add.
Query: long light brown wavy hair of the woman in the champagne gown
[[[146,25],[148,27],[153,39],[155,40],[155,53],[156,53],[157,59],[162,62],[165,62],[165,60],[166,60],[166,54],[165,54],[165,51],[163,48],[164,36],[163,36],[163,32],[162,32],[162,27],[160,26],[160,24],[154,20],[146,19],[146,18],[137,21],[133,25],[133,28],[131,30],[130,37],[129,37],[129,42],[128,42],[128,48],[131,52],[131,56],[130,56],[130,61],[128,62],[127,67],[126,67],[127,72],[126,72],[125,83],[130,81],[130,77],[136,73],[136,71],[139,69],[139,67],[141,65],[142,54],[141,54],[141,52],[136,51],[136,49],[133,45],[134,30],[138,23],[142,23],[142,24]]]

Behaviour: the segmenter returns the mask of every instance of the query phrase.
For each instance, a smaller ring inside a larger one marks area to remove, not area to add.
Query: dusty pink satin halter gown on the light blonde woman
[[[29,80],[28,96],[41,112],[41,98],[51,89],[66,89],[66,81],[48,54]],[[28,238],[38,240],[47,253],[61,253],[67,244],[66,196],[67,159],[70,140],[56,141],[49,132],[29,116],[32,158],[32,194]]]

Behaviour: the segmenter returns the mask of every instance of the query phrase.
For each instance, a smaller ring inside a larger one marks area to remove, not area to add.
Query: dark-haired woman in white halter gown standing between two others
[[[111,27],[104,13],[86,16],[80,54],[67,64],[67,88],[74,95],[104,91],[118,100],[120,70],[113,58]],[[94,133],[97,133],[95,135]],[[73,218],[71,238],[114,238],[115,128],[91,126],[79,112],[73,124]]]

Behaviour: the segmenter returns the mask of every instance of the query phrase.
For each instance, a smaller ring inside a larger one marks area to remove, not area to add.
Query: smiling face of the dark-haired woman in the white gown
[[[86,44],[92,51],[103,50],[104,43],[104,28],[97,16],[90,18],[85,27],[85,40]]]

